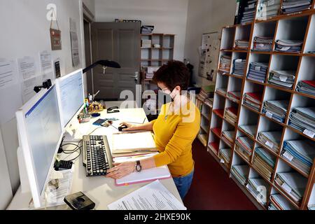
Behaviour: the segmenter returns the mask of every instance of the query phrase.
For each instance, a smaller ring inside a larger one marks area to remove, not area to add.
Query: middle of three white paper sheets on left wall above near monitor
[[[25,104],[36,93],[34,87],[39,84],[36,77],[36,66],[33,57],[23,57],[18,59],[18,69],[21,77],[22,101]]]

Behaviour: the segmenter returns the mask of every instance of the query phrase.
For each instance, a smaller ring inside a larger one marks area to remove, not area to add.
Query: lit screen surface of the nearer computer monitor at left
[[[41,195],[62,136],[55,85],[29,111],[26,111],[25,124]]]

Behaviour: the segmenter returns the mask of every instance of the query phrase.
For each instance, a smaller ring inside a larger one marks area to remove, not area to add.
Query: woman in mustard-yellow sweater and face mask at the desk
[[[183,199],[193,181],[194,165],[192,144],[200,130],[200,111],[182,94],[188,89],[190,72],[185,64],[170,61],[153,78],[172,103],[162,106],[157,120],[144,125],[127,125],[125,131],[153,131],[160,154],[137,162],[125,162],[109,170],[108,177],[120,179],[132,172],[168,165],[176,188]]]

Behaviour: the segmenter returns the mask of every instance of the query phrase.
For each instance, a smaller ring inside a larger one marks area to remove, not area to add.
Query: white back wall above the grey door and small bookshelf
[[[188,0],[96,0],[97,22],[141,20],[155,33],[176,34],[174,59],[183,60]]]

